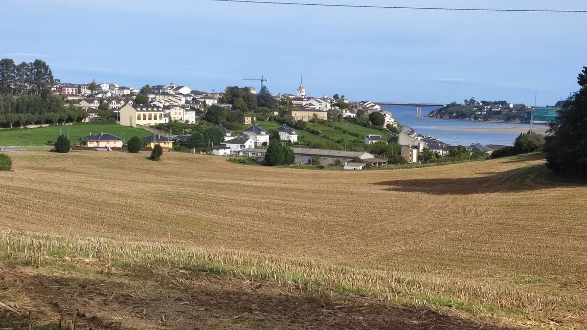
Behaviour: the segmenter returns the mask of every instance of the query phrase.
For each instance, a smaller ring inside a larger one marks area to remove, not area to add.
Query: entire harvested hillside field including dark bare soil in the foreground
[[[123,328],[587,321],[587,187],[549,181],[539,155],[362,173],[182,153],[11,156],[0,301],[17,321],[28,308]]]

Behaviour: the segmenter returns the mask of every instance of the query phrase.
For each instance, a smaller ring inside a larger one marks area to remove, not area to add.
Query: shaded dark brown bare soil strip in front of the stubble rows
[[[322,300],[206,272],[67,271],[0,263],[0,291],[28,302],[0,306],[0,326],[70,324],[122,329],[505,329],[429,309],[397,308],[353,296]],[[21,312],[22,315],[19,315]],[[63,316],[62,316],[63,315]]]

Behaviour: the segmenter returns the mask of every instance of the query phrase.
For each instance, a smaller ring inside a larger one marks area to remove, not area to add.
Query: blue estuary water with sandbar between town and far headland
[[[421,135],[430,135],[449,144],[471,143],[502,144],[511,146],[519,133],[530,130],[529,123],[481,122],[473,120],[438,119],[416,117],[416,107],[382,106],[393,114],[394,119],[404,126],[410,126]],[[422,116],[439,107],[423,107]],[[548,129],[545,124],[534,124],[535,132]]]

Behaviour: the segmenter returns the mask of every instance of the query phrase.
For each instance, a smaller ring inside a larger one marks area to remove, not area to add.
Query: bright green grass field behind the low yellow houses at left
[[[91,134],[110,133],[123,139],[133,136],[145,137],[151,133],[143,129],[119,124],[76,123],[68,126],[50,125],[36,129],[3,129],[0,130],[0,146],[42,146],[47,141],[55,141],[59,136],[69,135],[69,140],[77,142],[80,137]]]

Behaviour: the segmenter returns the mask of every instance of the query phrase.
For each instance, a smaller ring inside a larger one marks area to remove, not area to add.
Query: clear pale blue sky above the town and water
[[[87,2],[87,3],[86,3]],[[302,2],[292,0],[292,2]],[[310,2],[305,1],[305,2]],[[312,0],[361,5],[587,9],[585,0]],[[63,82],[313,96],[553,105],[587,65],[587,14],[408,11],[205,0],[2,0],[0,57],[45,60]]]

